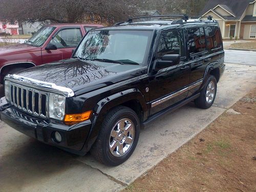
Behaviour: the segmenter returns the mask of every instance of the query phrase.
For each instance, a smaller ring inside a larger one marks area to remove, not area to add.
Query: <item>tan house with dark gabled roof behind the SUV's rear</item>
[[[222,38],[256,39],[255,0],[209,0],[200,15],[218,20]]]

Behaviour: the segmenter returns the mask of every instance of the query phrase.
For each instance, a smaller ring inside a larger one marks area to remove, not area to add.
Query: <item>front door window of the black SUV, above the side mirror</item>
[[[161,34],[157,48],[157,58],[161,58],[165,54],[185,56],[183,30],[169,31]]]

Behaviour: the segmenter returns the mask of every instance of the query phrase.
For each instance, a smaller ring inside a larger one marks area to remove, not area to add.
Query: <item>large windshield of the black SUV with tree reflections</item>
[[[74,57],[142,65],[152,31],[93,30],[82,40]]]

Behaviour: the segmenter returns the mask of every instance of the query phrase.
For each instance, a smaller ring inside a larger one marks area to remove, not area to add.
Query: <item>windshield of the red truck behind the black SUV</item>
[[[41,27],[32,37],[27,40],[26,44],[40,47],[52,34],[55,27]]]

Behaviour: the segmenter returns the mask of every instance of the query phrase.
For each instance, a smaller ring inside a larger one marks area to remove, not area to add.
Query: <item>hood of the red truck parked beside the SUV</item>
[[[0,55],[3,56],[3,55],[15,54],[15,53],[31,52],[38,49],[41,49],[41,48],[33,47],[27,44],[4,46],[4,47],[0,47]]]

